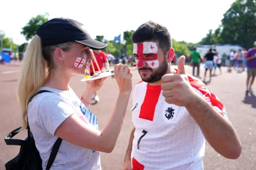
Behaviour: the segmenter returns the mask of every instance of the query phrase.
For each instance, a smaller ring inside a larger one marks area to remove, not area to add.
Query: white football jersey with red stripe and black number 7
[[[195,77],[190,84],[227,117],[218,98]],[[134,87],[132,121],[133,170],[203,170],[205,138],[185,107],[165,102],[161,86],[141,81]]]

